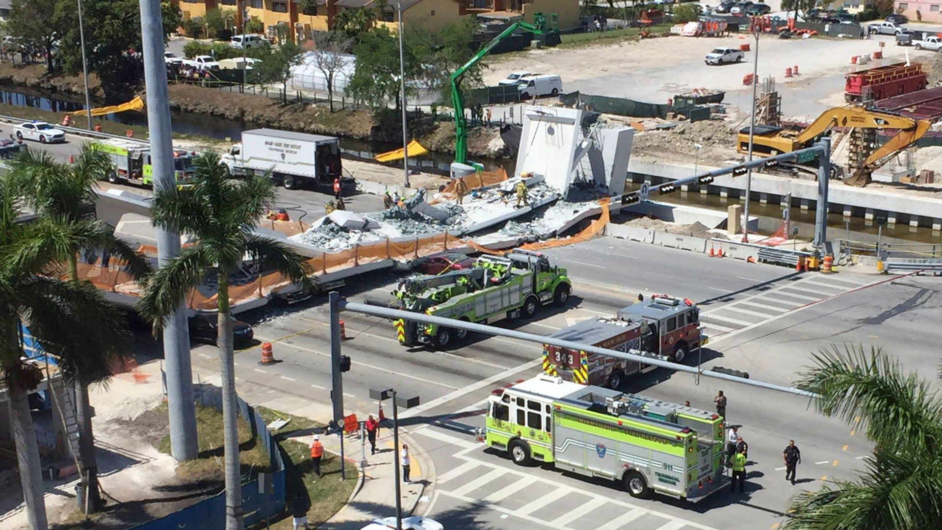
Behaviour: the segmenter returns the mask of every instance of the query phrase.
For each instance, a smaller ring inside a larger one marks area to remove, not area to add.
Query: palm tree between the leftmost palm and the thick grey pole
[[[94,221],[95,197],[98,181],[111,170],[111,161],[104,153],[82,147],[73,164],[58,163],[46,152],[25,150],[10,161],[10,178],[24,193],[26,205],[50,224],[59,224],[68,240],[42,241],[35,249],[45,258],[57,259],[68,267],[69,279],[79,282],[77,256],[79,252],[101,248],[126,261],[128,272],[143,280],[150,272],[146,260],[127,243],[115,238],[114,231],[104,222]],[[105,349],[94,352],[94,357],[112,359],[122,355],[120,344],[105,344]],[[67,357],[79,357],[88,352],[88,345],[71,352]],[[107,362],[91,366],[77,365],[69,370],[68,379],[75,393],[75,420],[79,428],[79,455],[81,478],[85,483],[89,513],[101,504],[98,492],[98,465],[95,458],[94,435],[91,429],[89,384],[106,382],[110,377]]]

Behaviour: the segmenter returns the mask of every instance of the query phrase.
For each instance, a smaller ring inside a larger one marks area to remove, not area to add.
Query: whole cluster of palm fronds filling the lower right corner
[[[873,442],[866,470],[792,499],[784,528],[942,528],[942,399],[879,348],[832,346],[814,356],[800,388],[818,411],[865,426]]]

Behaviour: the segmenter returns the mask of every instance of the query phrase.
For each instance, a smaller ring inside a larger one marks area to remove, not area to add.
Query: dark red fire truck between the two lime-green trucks
[[[706,345],[708,340],[700,327],[700,310],[690,300],[663,294],[620,309],[614,318],[582,321],[551,337],[674,362],[683,362],[691,350]],[[544,373],[581,385],[618,389],[625,377],[655,368],[583,350],[543,346]]]

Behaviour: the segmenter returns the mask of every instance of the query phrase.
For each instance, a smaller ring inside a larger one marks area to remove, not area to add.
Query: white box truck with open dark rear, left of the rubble
[[[331,186],[336,177],[345,190],[355,186],[352,178],[343,177],[340,141],[332,136],[275,129],[242,131],[242,142],[233,145],[220,163],[233,176],[271,172],[271,178],[286,190]]]

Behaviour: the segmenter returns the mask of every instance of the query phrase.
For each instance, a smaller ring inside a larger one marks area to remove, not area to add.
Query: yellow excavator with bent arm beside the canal
[[[872,141],[853,141],[852,151],[862,153],[862,160],[853,163],[851,174],[844,177],[844,182],[851,186],[866,186],[870,173],[878,169],[890,158],[896,156],[901,150],[916,143],[922,135],[929,130],[932,122],[915,120],[897,114],[870,110],[862,107],[836,107],[825,110],[812,124],[801,130],[790,130],[778,126],[755,125],[753,134],[753,155],[774,156],[790,153],[798,149],[810,147],[820,137],[828,134],[832,128],[851,127],[853,131],[859,130],[864,135],[875,135],[878,129],[898,129],[900,132],[886,141],[883,145],[870,150],[875,146],[875,136]],[[736,150],[739,153],[749,151],[749,127],[739,131]],[[796,160],[799,164],[808,160]]]

